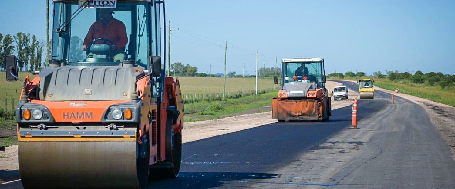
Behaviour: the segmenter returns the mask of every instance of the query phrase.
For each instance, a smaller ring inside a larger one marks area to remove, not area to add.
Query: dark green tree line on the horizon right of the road
[[[329,78],[336,77],[336,78],[344,78],[344,77],[364,77],[366,74],[364,72],[346,72],[346,73],[330,73],[328,75]],[[455,75],[444,74],[441,72],[428,72],[423,73],[421,71],[417,71],[414,74],[409,72],[399,72],[398,70],[389,71],[386,74],[382,74],[380,71],[374,72],[372,77],[374,78],[387,78],[390,81],[399,81],[399,80],[407,80],[413,83],[423,84],[426,83],[430,86],[435,86],[436,84],[442,88],[445,87],[452,87],[455,85]]]

